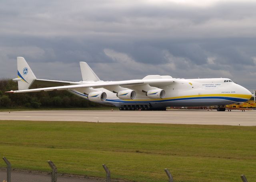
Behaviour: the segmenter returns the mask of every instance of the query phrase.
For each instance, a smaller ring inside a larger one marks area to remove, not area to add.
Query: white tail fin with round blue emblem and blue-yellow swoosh
[[[36,80],[31,68],[23,57],[17,57],[18,65],[18,78],[14,79],[18,81],[18,89],[26,90],[29,89],[30,85]]]

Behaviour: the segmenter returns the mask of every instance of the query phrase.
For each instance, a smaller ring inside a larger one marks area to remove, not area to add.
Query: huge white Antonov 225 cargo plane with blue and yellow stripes
[[[82,81],[68,82],[37,79],[23,57],[17,58],[18,90],[67,90],[92,102],[119,107],[120,110],[161,110],[168,106],[218,106],[245,102],[252,97],[246,88],[229,78],[180,79],[148,75],[141,80],[102,81],[85,62],[80,62]],[[30,89],[32,84],[47,86]]]

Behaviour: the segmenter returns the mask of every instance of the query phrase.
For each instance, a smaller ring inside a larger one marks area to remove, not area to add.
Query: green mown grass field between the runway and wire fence
[[[136,179],[240,182],[256,178],[256,127],[0,121],[0,155],[13,166]],[[0,162],[4,164],[4,162]]]

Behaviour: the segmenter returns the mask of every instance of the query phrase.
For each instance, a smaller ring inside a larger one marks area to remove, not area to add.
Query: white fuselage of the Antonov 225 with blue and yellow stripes
[[[95,90],[104,91],[107,94],[107,99],[99,103],[116,107],[126,105],[150,105],[152,108],[165,108],[168,106],[222,106],[245,102],[252,96],[249,90],[228,78],[173,79],[175,79],[175,84],[159,85],[166,93],[164,98],[159,99],[150,99],[141,90],[135,90],[136,98],[133,100],[121,100],[115,93],[104,88],[96,88]],[[156,79],[148,79],[146,81],[149,83],[156,82]],[[86,82],[81,84],[86,84]],[[87,94],[82,88],[70,90],[70,92],[87,99]]]

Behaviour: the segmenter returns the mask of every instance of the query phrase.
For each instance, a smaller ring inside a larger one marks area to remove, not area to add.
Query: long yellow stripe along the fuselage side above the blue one
[[[251,95],[246,94],[202,94],[202,95],[191,95],[191,96],[178,96],[178,97],[168,97],[163,99],[134,99],[134,100],[125,100],[125,101],[147,101],[147,100],[169,100],[169,99],[180,99],[180,98],[193,98],[193,97],[235,97],[235,98],[243,98],[250,99]]]

